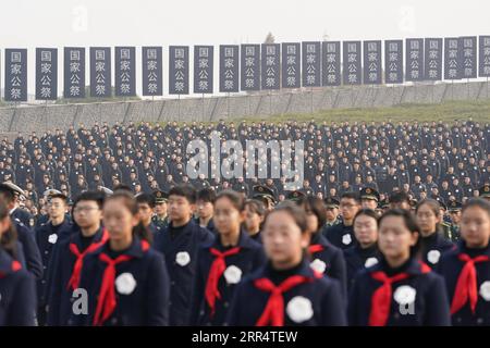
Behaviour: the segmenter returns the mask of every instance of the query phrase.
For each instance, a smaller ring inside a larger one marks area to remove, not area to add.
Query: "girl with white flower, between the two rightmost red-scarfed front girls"
[[[415,209],[417,224],[420,227],[420,257],[424,262],[433,268],[441,256],[455,246],[442,235],[440,204],[434,199],[425,199]]]

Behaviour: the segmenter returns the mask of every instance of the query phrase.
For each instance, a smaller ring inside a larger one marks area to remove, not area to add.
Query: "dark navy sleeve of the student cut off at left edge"
[[[36,313],[36,288],[33,275],[28,272],[17,274],[19,284],[15,287],[9,325],[34,326]]]

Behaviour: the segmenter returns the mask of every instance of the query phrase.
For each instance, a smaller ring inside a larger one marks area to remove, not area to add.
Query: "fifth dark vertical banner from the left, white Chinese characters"
[[[136,49],[117,47],[115,51],[115,95],[119,97],[136,96]]]

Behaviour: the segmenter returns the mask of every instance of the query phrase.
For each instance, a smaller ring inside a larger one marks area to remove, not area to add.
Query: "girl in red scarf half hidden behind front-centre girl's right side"
[[[308,253],[310,266],[318,273],[339,281],[342,294],[347,295],[347,271],[342,250],[330,244],[321,234],[321,227],[327,222],[327,212],[323,201],[313,196],[304,196],[296,203],[306,212],[310,244]]]

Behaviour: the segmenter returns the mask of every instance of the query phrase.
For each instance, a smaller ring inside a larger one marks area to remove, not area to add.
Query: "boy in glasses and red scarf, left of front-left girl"
[[[73,206],[76,232],[54,247],[49,276],[48,326],[68,325],[84,259],[109,238],[101,226],[103,199],[99,191],[81,194]]]

